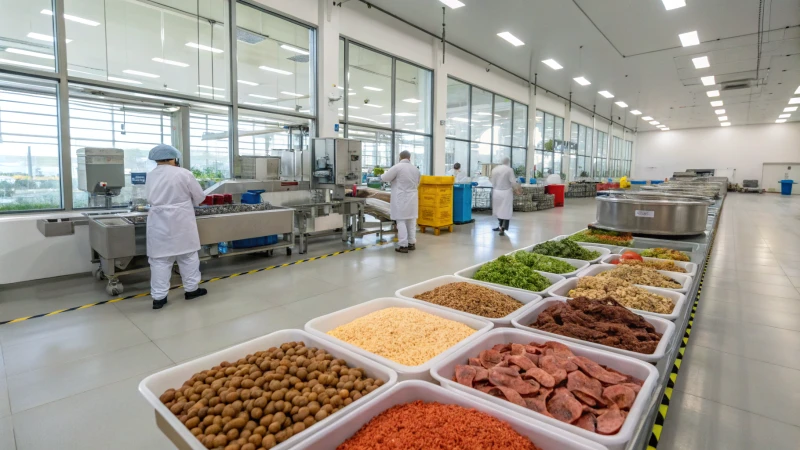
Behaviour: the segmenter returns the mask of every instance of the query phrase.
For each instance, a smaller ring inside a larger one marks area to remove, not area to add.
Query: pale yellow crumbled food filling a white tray
[[[406,366],[424,364],[475,330],[416,308],[385,308],[328,334]]]

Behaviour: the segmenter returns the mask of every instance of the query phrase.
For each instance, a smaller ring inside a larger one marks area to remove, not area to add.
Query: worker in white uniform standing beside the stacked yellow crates
[[[417,215],[419,214],[419,169],[411,164],[411,153],[400,152],[400,162],[381,175],[381,181],[392,183],[392,220],[397,224],[399,253],[417,249]]]

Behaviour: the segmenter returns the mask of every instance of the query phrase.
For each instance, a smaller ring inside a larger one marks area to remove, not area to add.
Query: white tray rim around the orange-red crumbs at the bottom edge
[[[603,450],[605,447],[577,435],[564,433],[545,423],[511,414],[496,405],[475,397],[461,395],[433,383],[403,381],[388,392],[353,410],[336,428],[327,428],[314,438],[303,441],[297,450],[330,450],[338,447],[366,425],[373,417],[404,403],[422,400],[476,409],[508,423],[517,433],[527,437],[542,450]]]

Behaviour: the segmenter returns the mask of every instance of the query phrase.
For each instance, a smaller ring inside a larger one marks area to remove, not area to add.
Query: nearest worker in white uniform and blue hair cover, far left
[[[150,150],[149,159],[158,164],[147,174],[145,190],[150,212],[147,216],[147,257],[150,261],[150,296],[153,309],[167,304],[172,266],[178,262],[184,298],[206,295],[200,284],[200,235],[194,207],[206,194],[191,172],[178,166],[180,152],[161,144]]]

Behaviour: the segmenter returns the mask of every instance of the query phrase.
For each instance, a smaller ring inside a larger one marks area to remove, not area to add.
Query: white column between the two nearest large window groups
[[[344,105],[344,91],[337,89],[339,83],[339,8],[333,2],[319,0],[317,29],[317,135],[337,137],[335,126],[339,123],[338,108]],[[331,102],[329,98],[341,97]]]

